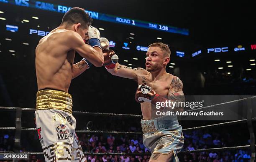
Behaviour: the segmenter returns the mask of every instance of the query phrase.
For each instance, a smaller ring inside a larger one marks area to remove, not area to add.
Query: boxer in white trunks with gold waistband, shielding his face
[[[46,162],[87,162],[75,133],[72,96],[68,92],[72,79],[88,67],[84,61],[74,64],[76,52],[95,66],[104,63],[100,32],[90,26],[91,22],[84,9],[73,7],[65,13],[61,25],[36,47],[35,118]],[[88,37],[90,45],[84,43]]]

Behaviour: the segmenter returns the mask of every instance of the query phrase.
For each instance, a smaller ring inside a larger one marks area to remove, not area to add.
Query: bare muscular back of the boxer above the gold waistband
[[[36,47],[38,90],[53,88],[68,92],[75,51],[69,47],[69,30],[52,30]]]

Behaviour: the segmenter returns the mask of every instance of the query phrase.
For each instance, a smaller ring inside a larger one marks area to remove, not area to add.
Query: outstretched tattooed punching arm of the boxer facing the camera
[[[147,72],[145,69],[138,67],[131,69],[125,65],[120,65],[117,63],[115,65],[115,68],[113,69],[107,69],[110,74],[118,76],[118,77],[124,77],[128,79],[138,80],[137,75],[139,72]]]

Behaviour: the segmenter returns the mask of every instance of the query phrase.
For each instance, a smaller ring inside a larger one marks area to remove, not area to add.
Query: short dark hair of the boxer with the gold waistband
[[[62,17],[61,25],[64,23],[68,25],[81,23],[81,27],[86,28],[91,25],[92,17],[83,8],[73,7]]]

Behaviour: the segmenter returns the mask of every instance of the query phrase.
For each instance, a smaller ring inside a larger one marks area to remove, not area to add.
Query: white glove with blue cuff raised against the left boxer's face
[[[92,47],[100,47],[100,31],[96,27],[90,25],[88,29],[89,42]],[[101,47],[100,47],[101,48]]]

